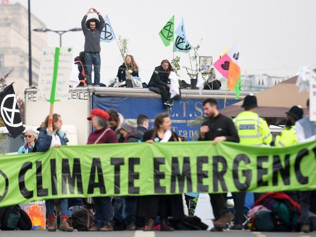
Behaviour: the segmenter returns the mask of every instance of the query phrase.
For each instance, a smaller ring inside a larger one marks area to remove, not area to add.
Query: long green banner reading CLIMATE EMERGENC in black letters
[[[0,206],[61,197],[316,189],[316,142],[62,146],[0,158]]]

